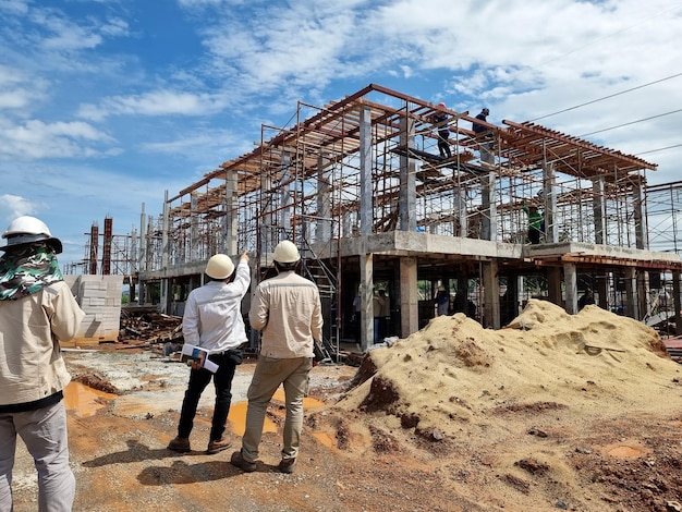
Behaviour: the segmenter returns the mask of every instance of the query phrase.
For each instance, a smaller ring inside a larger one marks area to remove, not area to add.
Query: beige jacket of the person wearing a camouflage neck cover
[[[59,281],[17,301],[0,301],[0,405],[35,402],[71,380],[59,341],[78,332],[85,314]]]

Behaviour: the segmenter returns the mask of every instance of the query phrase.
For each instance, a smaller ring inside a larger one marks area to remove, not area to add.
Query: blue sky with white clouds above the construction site
[[[681,179],[678,0],[0,0],[0,224],[41,218],[62,263],[93,222],[139,229],[143,203],[158,216],[299,100],[369,83],[599,132],[659,164],[649,183]]]

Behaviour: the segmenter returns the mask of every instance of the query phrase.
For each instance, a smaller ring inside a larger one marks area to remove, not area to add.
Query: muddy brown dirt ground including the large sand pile
[[[281,398],[258,471],[207,455],[207,389],[193,451],[175,435],[187,368],[130,350],[65,353],[76,511],[679,511],[682,366],[635,320],[532,301],[510,328],[439,317],[361,368],[314,368],[295,473],[276,471]],[[230,412],[239,448],[254,362]],[[316,400],[313,400],[316,399]],[[15,512],[36,507],[25,451]]]

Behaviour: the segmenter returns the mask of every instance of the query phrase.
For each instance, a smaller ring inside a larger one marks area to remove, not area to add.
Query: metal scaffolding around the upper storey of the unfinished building
[[[143,211],[139,236],[126,242],[125,269],[143,281],[162,280],[200,273],[217,252],[244,251],[266,268],[275,245],[292,240],[310,269],[324,260],[330,324],[338,325],[353,293],[340,294],[341,277],[351,267],[360,272],[357,256],[410,253],[434,266],[480,267],[479,256],[455,248],[447,256],[427,245],[367,248],[397,232],[523,245],[525,208],[533,205],[543,211],[543,244],[679,251],[681,186],[647,186],[656,164],[529,122],[480,123],[488,131],[477,136],[478,121],[452,110],[446,113],[453,156],[443,158],[435,121],[441,113],[375,84],[324,107],[300,101],[285,126],[261,126],[253,151],[172,197],[167,192],[158,217]],[[482,155],[487,145],[491,158]]]

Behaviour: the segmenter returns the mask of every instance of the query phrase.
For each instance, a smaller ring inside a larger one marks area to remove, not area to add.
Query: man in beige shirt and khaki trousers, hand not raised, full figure
[[[278,467],[282,473],[293,473],[314,343],[321,341],[321,305],[317,285],[295,272],[301,256],[293,243],[280,242],[273,259],[278,275],[258,284],[248,312],[251,326],[263,331],[263,339],[247,392],[242,449],[230,462],[245,472],[256,470],[265,414],[275,391],[283,385],[287,417]]]

